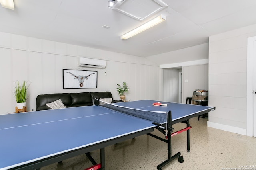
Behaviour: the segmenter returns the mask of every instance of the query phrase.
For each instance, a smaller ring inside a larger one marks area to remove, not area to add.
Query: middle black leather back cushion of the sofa
[[[84,93],[70,93],[71,104],[83,104],[83,103],[92,103],[91,94],[89,92]]]

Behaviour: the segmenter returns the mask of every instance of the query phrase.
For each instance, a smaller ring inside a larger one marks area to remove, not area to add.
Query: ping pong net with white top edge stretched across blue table
[[[147,111],[142,109],[118,106],[116,104],[107,103],[96,98],[94,98],[94,105],[100,105],[113,111],[117,111],[126,115],[132,115],[159,124],[164,124],[167,122],[167,112],[163,111]]]

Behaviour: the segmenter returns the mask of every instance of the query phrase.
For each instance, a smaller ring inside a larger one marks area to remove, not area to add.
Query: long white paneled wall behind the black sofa
[[[27,106],[36,108],[38,94],[110,91],[119,96],[116,83],[126,81],[126,100],[160,100],[159,66],[143,57],[81,47],[0,32],[0,114],[14,112],[14,81],[31,82]],[[78,67],[78,57],[104,59],[106,68]],[[98,88],[63,89],[62,69],[98,71]],[[104,76],[104,72],[107,76]]]

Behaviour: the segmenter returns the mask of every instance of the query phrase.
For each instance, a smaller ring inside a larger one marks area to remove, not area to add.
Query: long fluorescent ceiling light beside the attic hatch
[[[143,25],[133,29],[132,31],[129,31],[128,33],[125,33],[124,35],[121,35],[121,39],[128,39],[134,35],[137,35],[138,33],[141,33],[145,31],[146,29],[149,29],[158,23],[161,23],[162,21],[166,20],[166,16],[160,15],[153,20],[148,21],[147,23],[144,23]]]

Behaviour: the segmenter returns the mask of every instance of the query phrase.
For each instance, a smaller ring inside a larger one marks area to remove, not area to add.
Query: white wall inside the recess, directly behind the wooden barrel
[[[182,67],[182,103],[196,89],[208,90],[208,64]]]

